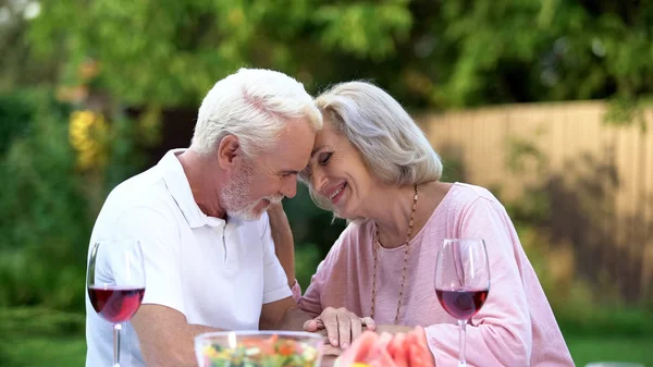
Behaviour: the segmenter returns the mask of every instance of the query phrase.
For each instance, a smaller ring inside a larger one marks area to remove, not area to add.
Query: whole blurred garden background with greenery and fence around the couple
[[[505,204],[576,364],[653,366],[645,0],[0,0],[0,366],[84,364],[107,193],[241,66],[389,90],[445,180]],[[306,288],[344,223],[304,188],[285,208]]]

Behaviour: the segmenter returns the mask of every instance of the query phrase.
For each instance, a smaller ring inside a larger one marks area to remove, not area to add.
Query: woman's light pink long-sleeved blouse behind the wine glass
[[[418,204],[419,205],[419,204]],[[343,231],[318,267],[306,294],[294,289],[299,307],[319,315],[346,307],[370,316],[373,272],[371,220]],[[574,366],[538,277],[504,207],[485,188],[456,183],[410,241],[407,283],[399,323],[423,326],[438,367],[457,366],[458,326],[434,291],[438,250],[447,237],[485,240],[491,288],[488,301],[467,327],[469,366]],[[404,269],[405,247],[379,247],[378,325],[393,323]]]

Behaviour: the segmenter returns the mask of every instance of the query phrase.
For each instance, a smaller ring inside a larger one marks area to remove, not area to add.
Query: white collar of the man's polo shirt
[[[184,168],[176,157],[185,150],[186,149],[169,150],[165,156],[161,158],[157,167],[162,171],[165,186],[168,187],[170,195],[172,195],[172,198],[176,203],[180,210],[182,210],[182,213],[188,222],[188,225],[190,225],[190,228],[209,225],[222,229],[224,229],[225,225],[230,228],[238,227],[242,222],[241,220],[229,217],[227,224],[224,219],[205,215],[197,203],[195,203],[193,192],[190,191],[190,184],[188,183]]]

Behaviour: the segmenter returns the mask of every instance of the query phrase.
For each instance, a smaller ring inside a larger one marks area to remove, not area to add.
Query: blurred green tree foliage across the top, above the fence
[[[0,49],[12,51],[0,87],[74,87],[91,61],[95,86],[133,106],[196,106],[244,65],[313,93],[371,78],[420,109],[596,98],[641,109],[653,91],[650,1],[61,0],[35,17],[30,4],[0,1],[11,14]]]

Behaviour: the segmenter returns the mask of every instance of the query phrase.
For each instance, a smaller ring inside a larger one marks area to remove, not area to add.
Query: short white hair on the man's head
[[[288,120],[306,119],[315,130],[322,117],[304,85],[280,72],[241,69],[215,83],[199,108],[190,149],[215,152],[226,135],[238,138],[249,158],[270,150]]]

